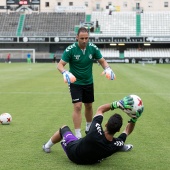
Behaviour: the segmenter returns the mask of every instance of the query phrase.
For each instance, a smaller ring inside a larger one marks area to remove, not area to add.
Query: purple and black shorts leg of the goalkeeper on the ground
[[[78,140],[78,138],[74,136],[74,134],[72,133],[72,131],[68,126],[65,126],[60,129],[60,135],[63,138],[61,145],[67,154],[67,150],[66,150],[67,145],[72,141]]]

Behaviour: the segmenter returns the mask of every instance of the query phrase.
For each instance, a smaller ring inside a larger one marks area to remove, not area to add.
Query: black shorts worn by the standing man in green
[[[70,93],[72,97],[72,103],[83,102],[92,103],[94,102],[94,87],[93,84],[78,85],[70,84]]]

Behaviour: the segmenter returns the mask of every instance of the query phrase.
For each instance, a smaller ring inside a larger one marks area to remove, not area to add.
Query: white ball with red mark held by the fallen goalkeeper
[[[132,109],[127,109],[126,113],[130,116],[130,117],[136,117],[136,111],[138,109],[141,109],[142,107],[144,107],[142,99],[137,96],[137,95],[130,95],[133,98],[134,104],[132,106]]]

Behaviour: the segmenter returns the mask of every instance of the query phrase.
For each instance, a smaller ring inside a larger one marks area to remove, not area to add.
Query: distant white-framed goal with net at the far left
[[[30,56],[35,63],[35,49],[0,49],[0,61],[7,62],[9,54],[11,62],[27,62],[27,57]]]

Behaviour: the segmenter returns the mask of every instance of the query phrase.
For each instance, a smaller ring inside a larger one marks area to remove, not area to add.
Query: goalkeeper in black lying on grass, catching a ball
[[[132,108],[133,103],[133,98],[127,96],[122,100],[98,107],[90,130],[85,137],[78,139],[70,128],[65,125],[43,145],[43,151],[50,153],[51,147],[61,141],[64,151],[72,162],[76,164],[94,164],[118,151],[131,150],[133,145],[125,145],[124,143],[126,137],[133,131],[137,119],[141,116],[143,107],[136,111],[136,116],[130,119],[125,130],[117,138],[115,133],[120,131],[123,123],[121,115],[113,114],[107,121],[105,130],[103,130],[101,124],[103,115],[109,110],[120,108],[126,112],[127,109]]]

